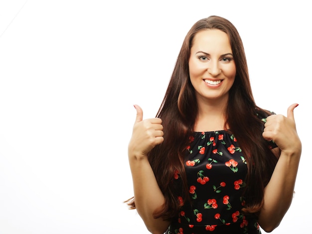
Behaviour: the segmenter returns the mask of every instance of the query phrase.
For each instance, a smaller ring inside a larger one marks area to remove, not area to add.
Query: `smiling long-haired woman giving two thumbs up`
[[[137,118],[128,153],[137,209],[153,234],[259,234],[292,202],[301,141],[255,104],[243,44],[219,16],[187,33],[156,118]]]

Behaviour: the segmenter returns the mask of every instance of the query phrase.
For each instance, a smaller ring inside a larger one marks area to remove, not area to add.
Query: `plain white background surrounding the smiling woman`
[[[296,195],[273,233],[312,233],[309,5],[1,0],[0,234],[148,233],[123,203],[133,105],[156,115],[186,32],[209,15],[240,32],[259,106],[300,104]]]

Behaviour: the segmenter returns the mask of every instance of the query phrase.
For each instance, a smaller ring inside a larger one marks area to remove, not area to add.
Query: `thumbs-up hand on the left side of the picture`
[[[162,143],[163,127],[160,118],[143,120],[143,110],[138,105],[135,105],[135,108],[137,117],[133,126],[128,153],[139,158],[146,156],[157,144]]]

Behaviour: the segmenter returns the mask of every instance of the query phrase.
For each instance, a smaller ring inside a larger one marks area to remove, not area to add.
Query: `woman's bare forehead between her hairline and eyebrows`
[[[193,38],[191,50],[232,53],[229,36],[219,29],[205,29],[197,32]]]

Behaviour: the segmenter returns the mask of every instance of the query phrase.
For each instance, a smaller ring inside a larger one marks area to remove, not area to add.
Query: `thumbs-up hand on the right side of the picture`
[[[298,104],[292,104],[287,110],[287,117],[272,115],[264,124],[263,138],[273,140],[284,152],[301,151],[301,141],[297,134],[294,109]]]

